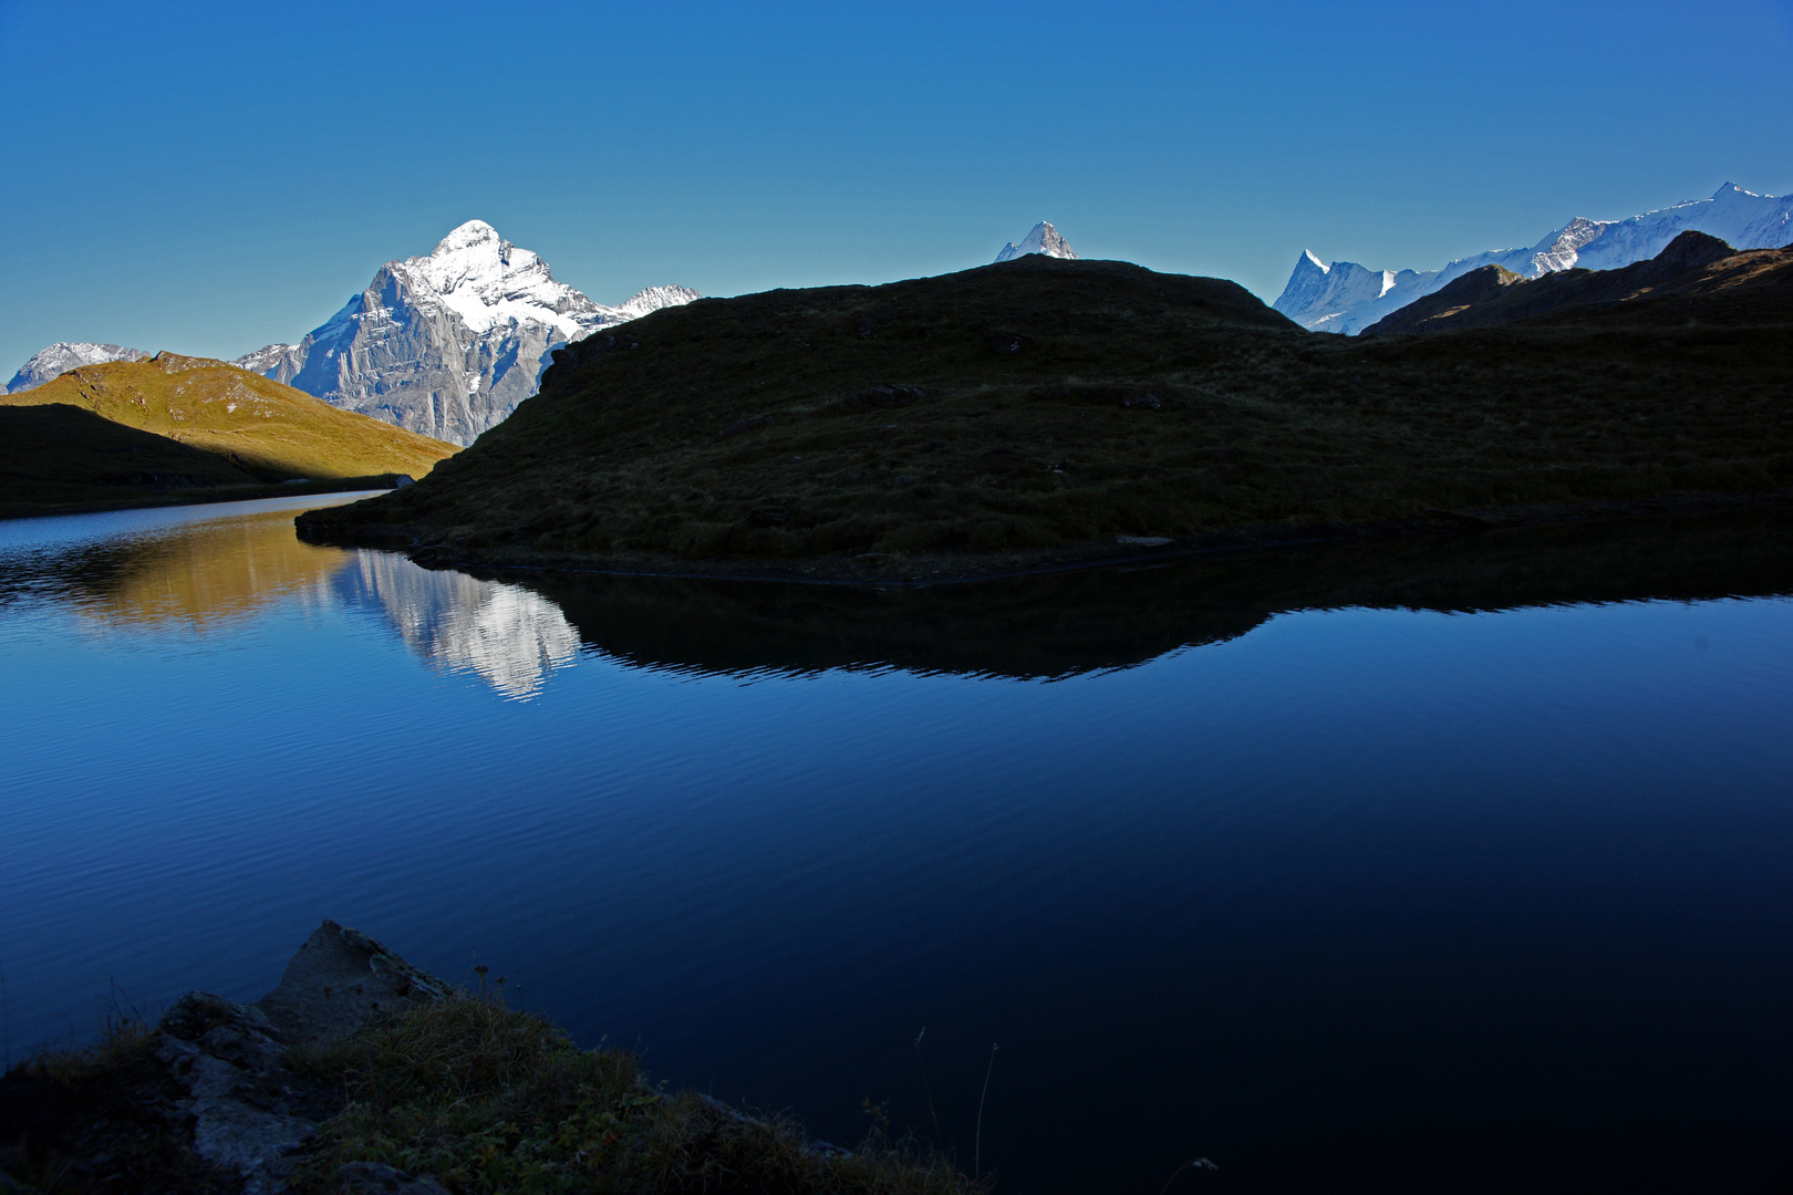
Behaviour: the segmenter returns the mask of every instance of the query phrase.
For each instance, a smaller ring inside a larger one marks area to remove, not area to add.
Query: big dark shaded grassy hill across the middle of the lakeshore
[[[445,563],[929,573],[916,554],[1766,491],[1793,484],[1789,330],[1359,340],[1234,283],[1031,256],[656,312],[558,353],[425,482],[299,525]]]

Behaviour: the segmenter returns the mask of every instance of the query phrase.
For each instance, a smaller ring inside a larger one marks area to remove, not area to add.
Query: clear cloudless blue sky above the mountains
[[[1235,278],[1793,190],[1793,0],[0,0],[0,378],[235,357],[489,220],[601,303],[886,281],[1035,220]]]

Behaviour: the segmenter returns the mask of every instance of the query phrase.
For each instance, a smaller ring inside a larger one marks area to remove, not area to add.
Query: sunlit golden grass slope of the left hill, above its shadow
[[[217,453],[260,480],[423,477],[459,451],[206,357],[158,353],[82,365],[34,391],[0,396],[5,407],[50,403]]]

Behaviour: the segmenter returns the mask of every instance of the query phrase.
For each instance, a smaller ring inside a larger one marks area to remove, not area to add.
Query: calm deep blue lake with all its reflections
[[[308,505],[0,523],[14,1061],[332,917],[836,1141],[988,1068],[1000,1191],[1793,1175],[1786,521],[871,593]]]

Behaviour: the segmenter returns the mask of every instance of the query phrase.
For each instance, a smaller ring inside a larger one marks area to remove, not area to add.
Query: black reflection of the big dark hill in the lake
[[[617,661],[694,674],[902,668],[1058,679],[1131,668],[1298,609],[1447,613],[1793,593],[1793,520],[1648,520],[1221,555],[929,589],[509,577]]]

